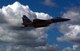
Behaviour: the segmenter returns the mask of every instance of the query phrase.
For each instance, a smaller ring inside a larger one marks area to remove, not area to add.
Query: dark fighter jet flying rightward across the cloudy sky
[[[31,21],[26,15],[23,15],[22,20],[23,20],[22,25],[24,25],[24,27],[40,28],[40,27],[47,27],[51,23],[69,21],[70,19],[52,18],[52,19],[48,19],[48,20],[34,19],[33,21]]]

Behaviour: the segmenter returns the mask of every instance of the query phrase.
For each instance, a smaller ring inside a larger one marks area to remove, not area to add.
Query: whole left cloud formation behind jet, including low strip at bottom
[[[3,6],[0,8],[0,51],[56,51],[57,46],[47,45],[49,28],[21,28],[23,15],[31,21],[52,18],[45,13],[33,12],[19,2]]]

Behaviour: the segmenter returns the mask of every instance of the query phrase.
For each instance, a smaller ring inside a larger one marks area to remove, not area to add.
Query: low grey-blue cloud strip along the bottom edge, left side
[[[14,46],[14,45],[0,45],[0,51],[58,51],[58,46],[46,45],[38,47],[25,47],[25,46]]]

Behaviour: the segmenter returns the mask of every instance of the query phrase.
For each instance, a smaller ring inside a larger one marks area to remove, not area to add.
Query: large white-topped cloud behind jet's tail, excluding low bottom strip
[[[49,19],[45,13],[33,12],[28,6],[15,2],[0,9],[0,41],[26,46],[44,46],[47,43],[47,28],[21,28],[22,16],[33,19]],[[48,30],[48,29],[47,29]]]

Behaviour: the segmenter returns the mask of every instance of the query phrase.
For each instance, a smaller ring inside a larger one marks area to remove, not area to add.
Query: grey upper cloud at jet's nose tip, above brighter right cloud
[[[71,19],[68,21],[68,24],[80,25],[80,8],[71,8],[63,15],[64,18]]]

